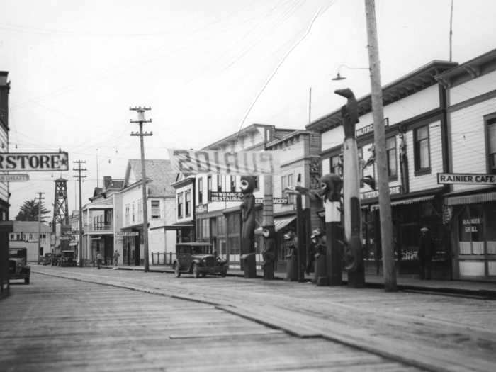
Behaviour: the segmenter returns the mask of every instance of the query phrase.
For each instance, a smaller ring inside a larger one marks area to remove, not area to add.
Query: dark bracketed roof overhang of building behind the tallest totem
[[[415,71],[406,74],[395,81],[383,86],[383,105],[389,105],[402,98],[426,89],[429,86],[437,84],[434,77],[441,74],[446,70],[452,69],[457,66],[456,62],[434,60],[424,66],[419,67]],[[361,98],[357,98],[359,104],[359,116],[365,115],[372,111],[372,98],[371,94],[367,94]],[[341,125],[341,106],[336,111],[328,115],[318,118],[312,123],[306,125],[306,129],[315,130],[315,132],[324,133],[327,130],[336,128]]]

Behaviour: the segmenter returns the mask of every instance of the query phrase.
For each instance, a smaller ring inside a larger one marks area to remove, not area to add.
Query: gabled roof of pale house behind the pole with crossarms
[[[175,196],[176,191],[171,186],[176,181],[177,172],[172,169],[171,161],[164,159],[146,159],[146,176],[151,179],[148,184],[148,196]],[[124,186],[130,186],[141,181],[141,160],[129,159],[125,170]]]

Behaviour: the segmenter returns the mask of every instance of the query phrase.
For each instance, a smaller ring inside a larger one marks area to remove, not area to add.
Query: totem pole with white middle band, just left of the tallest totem
[[[340,286],[342,277],[342,236],[341,227],[341,177],[337,174],[325,174],[320,179],[320,196],[325,209],[325,237],[327,252],[319,257],[315,264],[315,283],[317,286]]]

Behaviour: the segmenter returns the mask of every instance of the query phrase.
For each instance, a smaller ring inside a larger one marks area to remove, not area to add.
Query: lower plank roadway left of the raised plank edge
[[[113,273],[79,274],[106,283],[111,277],[100,275]],[[209,282],[220,290],[220,282]],[[293,337],[214,305],[40,274],[29,286],[11,286],[0,314],[1,371],[416,370],[322,337]]]

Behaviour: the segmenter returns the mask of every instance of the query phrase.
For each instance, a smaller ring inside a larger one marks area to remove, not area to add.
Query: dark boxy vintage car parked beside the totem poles
[[[181,273],[193,274],[194,278],[207,274],[226,276],[227,261],[213,252],[212,244],[208,243],[177,243],[176,259],[172,267],[176,278]]]

